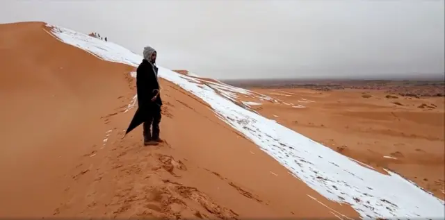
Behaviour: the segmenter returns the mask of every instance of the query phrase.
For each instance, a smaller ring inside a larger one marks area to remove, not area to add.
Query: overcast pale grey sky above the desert
[[[90,33],[213,78],[444,73],[444,1],[0,1],[0,23]]]

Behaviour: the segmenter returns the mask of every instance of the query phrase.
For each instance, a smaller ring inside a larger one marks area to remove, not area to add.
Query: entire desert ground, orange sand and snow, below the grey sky
[[[445,217],[443,81],[240,84],[159,67],[165,142],[147,147],[141,128],[123,137],[140,55],[43,22],[0,33],[1,217]]]

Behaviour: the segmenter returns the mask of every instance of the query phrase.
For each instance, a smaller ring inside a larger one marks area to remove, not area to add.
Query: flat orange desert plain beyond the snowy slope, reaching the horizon
[[[259,114],[444,199],[443,80],[224,82],[285,103],[250,106]]]

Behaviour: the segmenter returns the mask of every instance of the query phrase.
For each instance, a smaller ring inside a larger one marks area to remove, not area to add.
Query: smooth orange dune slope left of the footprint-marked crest
[[[54,181],[102,137],[100,116],[116,103],[115,87],[127,87],[129,67],[66,46],[42,25],[0,26],[1,214],[43,214],[58,203],[51,192],[63,183]]]

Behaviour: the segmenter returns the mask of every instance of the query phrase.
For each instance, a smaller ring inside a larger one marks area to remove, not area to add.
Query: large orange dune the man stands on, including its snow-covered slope
[[[159,67],[166,142],[143,147],[140,128],[122,139],[140,56],[44,23],[0,29],[3,217],[444,216],[401,176],[261,116],[312,100]]]

